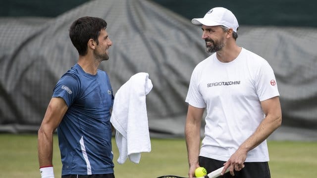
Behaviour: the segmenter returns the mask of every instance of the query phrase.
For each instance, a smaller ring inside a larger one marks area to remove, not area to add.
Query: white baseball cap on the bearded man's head
[[[194,18],[192,23],[195,25],[217,26],[223,25],[227,28],[232,28],[237,32],[239,24],[233,13],[223,7],[214,7],[210,9],[204,18]]]

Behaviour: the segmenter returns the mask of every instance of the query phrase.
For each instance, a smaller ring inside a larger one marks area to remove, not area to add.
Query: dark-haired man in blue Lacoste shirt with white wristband
[[[38,131],[42,178],[54,178],[53,132],[57,128],[62,178],[114,178],[110,108],[112,88],[99,64],[112,45],[105,20],[81,17],[69,29],[78,62],[57,82]]]

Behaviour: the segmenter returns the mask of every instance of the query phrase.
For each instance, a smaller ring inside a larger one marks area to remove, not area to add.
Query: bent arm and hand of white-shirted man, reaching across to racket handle
[[[262,110],[265,114],[264,120],[258,126],[254,134],[246,139],[231,155],[230,159],[224,164],[222,173],[230,168],[230,174],[234,175],[233,170],[240,171],[244,167],[247,153],[262,143],[270,134],[272,134],[282,124],[282,112],[279,97],[273,97],[261,102]]]

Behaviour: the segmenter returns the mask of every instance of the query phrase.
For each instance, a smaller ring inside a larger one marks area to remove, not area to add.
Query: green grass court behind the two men
[[[140,164],[127,160],[117,164],[118,150],[113,141],[116,178],[156,178],[162,175],[186,177],[187,152],[184,139],[151,139],[152,151],[142,153]],[[317,142],[268,141],[272,178],[315,178]],[[54,137],[53,165],[61,175],[57,137]],[[0,178],[40,178],[36,134],[0,134]]]

